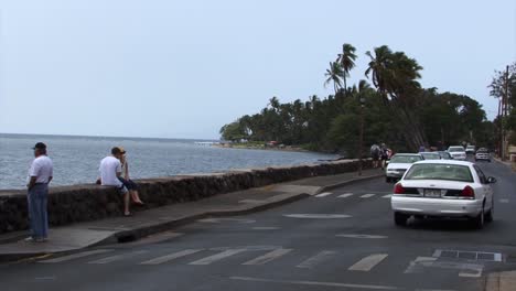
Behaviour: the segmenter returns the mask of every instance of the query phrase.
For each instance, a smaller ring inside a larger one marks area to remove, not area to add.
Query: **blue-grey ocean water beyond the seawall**
[[[100,160],[115,146],[126,149],[131,179],[294,165],[336,158],[313,152],[222,149],[196,144],[197,140],[0,133],[0,190],[25,186],[34,158],[31,148],[39,141],[46,143],[54,161],[53,185],[94,183]]]

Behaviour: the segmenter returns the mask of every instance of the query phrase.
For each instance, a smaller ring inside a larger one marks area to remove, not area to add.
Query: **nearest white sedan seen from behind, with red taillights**
[[[395,185],[390,204],[396,225],[410,216],[467,218],[476,228],[493,220],[496,179],[474,163],[433,160],[413,163]]]

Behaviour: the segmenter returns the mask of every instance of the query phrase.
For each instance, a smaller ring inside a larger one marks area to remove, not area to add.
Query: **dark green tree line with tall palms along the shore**
[[[420,146],[459,144],[462,141],[493,147],[494,125],[473,98],[422,88],[422,67],[404,52],[388,46],[365,53],[369,63],[361,79],[348,85],[357,58],[356,48],[344,44],[330,62],[324,85],[334,94],[280,103],[272,97],[255,115],[245,115],[221,128],[224,140],[278,141],[309,150],[358,152],[361,106],[364,106],[364,147],[385,142],[397,151]],[[367,151],[365,151],[367,152]]]

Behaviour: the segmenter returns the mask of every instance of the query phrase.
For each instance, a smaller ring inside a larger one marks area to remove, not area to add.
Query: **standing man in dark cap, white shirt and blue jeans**
[[[43,242],[49,239],[49,183],[54,175],[52,160],[46,155],[46,144],[37,142],[34,148],[34,160],[28,177],[28,206],[31,236],[25,241]]]

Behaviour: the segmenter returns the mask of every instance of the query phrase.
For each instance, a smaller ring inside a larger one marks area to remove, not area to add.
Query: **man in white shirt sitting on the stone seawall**
[[[122,150],[118,147],[111,149],[111,155],[100,161],[100,183],[103,186],[116,186],[123,194],[123,216],[131,216],[129,212],[129,191],[120,181]]]

